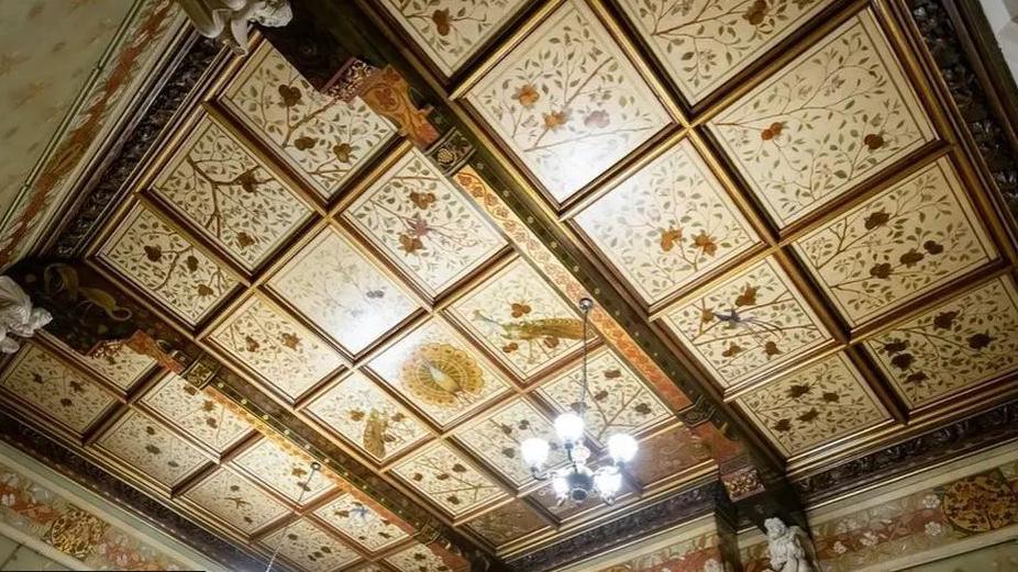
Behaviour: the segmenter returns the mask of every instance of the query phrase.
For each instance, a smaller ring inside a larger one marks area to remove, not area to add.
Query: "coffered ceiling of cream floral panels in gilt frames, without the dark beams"
[[[89,265],[508,559],[717,471],[675,415],[688,399],[598,311],[587,440],[601,455],[612,431],[639,437],[624,494],[558,507],[529,475],[519,442],[577,404],[583,295],[634,309],[793,476],[1013,389],[1011,221],[893,11],[530,4],[367,9],[610,292],[264,41],[206,83]],[[342,468],[302,491],[307,453],[147,356],[43,335],[0,390],[189,518],[263,553],[281,542],[295,569],[466,565]]]

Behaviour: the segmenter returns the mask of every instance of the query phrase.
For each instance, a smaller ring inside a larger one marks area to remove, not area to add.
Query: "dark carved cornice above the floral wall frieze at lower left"
[[[199,527],[152,496],[128,485],[91,461],[0,411],[0,438],[51,469],[117,503],[158,530],[233,570],[264,570],[266,563],[241,545]]]

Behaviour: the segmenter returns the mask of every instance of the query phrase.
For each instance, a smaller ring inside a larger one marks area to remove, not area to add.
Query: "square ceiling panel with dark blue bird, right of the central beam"
[[[773,258],[667,310],[664,321],[724,388],[755,378],[831,339]]]

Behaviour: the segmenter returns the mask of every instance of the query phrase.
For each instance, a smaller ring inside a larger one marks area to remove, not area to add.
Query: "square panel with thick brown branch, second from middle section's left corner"
[[[153,190],[248,270],[311,213],[209,119],[159,173]]]

